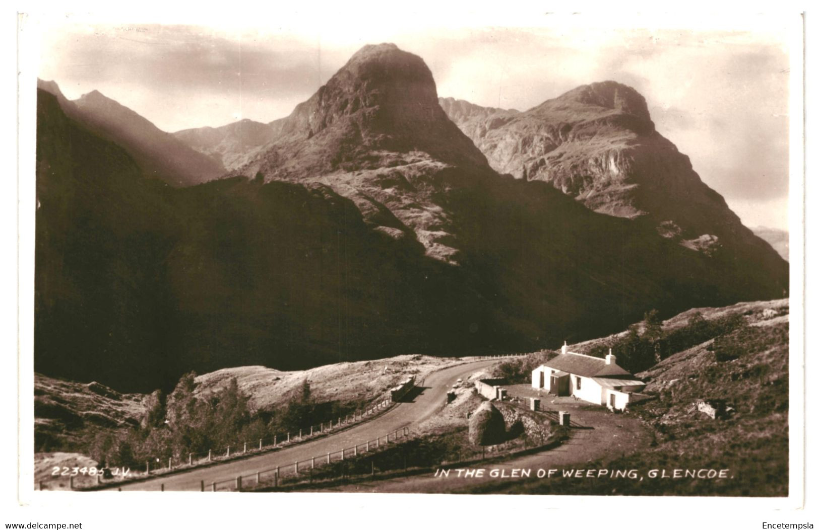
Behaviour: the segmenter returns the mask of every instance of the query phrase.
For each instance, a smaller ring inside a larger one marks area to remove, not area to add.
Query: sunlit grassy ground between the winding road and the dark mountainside
[[[219,435],[225,444],[242,441],[242,427],[256,420],[261,421],[254,426],[262,431],[260,436],[266,436],[264,431],[272,435],[280,429],[281,432],[302,426],[309,429],[311,424],[346,415],[384,397],[388,389],[409,375],[422,380],[430,372],[457,362],[460,361],[415,355],[342,362],[303,371],[238,366],[188,378],[189,392],[181,398],[180,392],[166,397],[159,390],[125,394],[97,382],[75,383],[36,374],[34,447],[38,460],[47,458],[44,455],[47,451],[90,456],[99,452],[101,446],[115,445],[116,440],[147,437],[152,425],[162,425],[165,415],[174,416],[180,402],[224,401],[227,393],[242,397],[243,417],[242,425]],[[234,383],[235,389],[231,389]],[[291,403],[301,397],[305,384],[310,388],[309,403],[296,410]]]

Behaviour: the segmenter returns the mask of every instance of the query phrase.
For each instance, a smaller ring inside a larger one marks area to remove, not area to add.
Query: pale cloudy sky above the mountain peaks
[[[69,99],[99,90],[168,132],[286,116],[366,43],[423,57],[439,96],[482,106],[526,110],[614,80],[646,98],[658,131],[746,226],[788,227],[790,55],[781,25],[542,22],[408,19],[341,30],[63,20],[41,32],[37,72]]]

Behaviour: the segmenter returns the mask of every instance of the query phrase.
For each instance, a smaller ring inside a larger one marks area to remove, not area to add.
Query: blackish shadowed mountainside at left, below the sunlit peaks
[[[473,312],[421,245],[326,186],[170,189],[54,97],[38,107],[37,371],[147,391],[192,369],[442,353],[449,312]]]

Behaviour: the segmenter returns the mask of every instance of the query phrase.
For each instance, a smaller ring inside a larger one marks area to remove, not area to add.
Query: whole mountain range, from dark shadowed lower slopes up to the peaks
[[[99,96],[69,105],[51,88],[38,92],[45,375],[147,391],[224,366],[523,351],[650,308],[787,295],[785,260],[617,83],[536,112],[441,105],[420,57],[366,46],[270,131],[152,133],[231,168],[177,188],[165,182],[219,171],[146,178],[147,150],[115,124],[152,129],[111,104],[115,123],[97,126]]]

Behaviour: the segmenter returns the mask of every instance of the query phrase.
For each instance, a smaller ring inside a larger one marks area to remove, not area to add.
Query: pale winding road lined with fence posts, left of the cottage
[[[466,362],[428,375],[423,384],[423,390],[413,401],[402,402],[390,410],[348,429],[324,438],[311,440],[278,451],[271,451],[259,456],[251,456],[242,460],[224,462],[224,464],[210,465],[199,469],[191,469],[181,473],[158,476],[134,483],[111,484],[111,487],[121,487],[122,491],[200,491],[201,481],[206,487],[211,483],[219,483],[235,479],[239,475],[256,473],[261,469],[272,469],[277,465],[291,469],[296,460],[310,460],[311,457],[326,455],[328,452],[340,451],[342,447],[353,447],[375,438],[383,437],[387,433],[419,424],[434,415],[443,406],[446,392],[459,378],[466,378],[474,371],[491,366],[497,359],[488,361]]]

